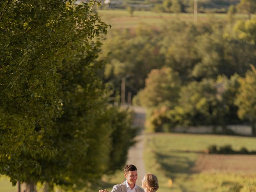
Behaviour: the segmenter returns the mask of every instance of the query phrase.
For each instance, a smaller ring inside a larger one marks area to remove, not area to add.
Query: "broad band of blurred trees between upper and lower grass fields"
[[[256,20],[172,20],[112,32],[105,82],[149,110],[147,128],[256,122]]]

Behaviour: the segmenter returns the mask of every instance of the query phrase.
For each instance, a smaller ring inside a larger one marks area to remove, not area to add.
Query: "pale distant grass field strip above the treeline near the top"
[[[136,28],[140,23],[145,23],[151,26],[159,27],[162,24],[170,20],[185,20],[193,21],[193,14],[180,13],[177,17],[174,13],[156,13],[150,11],[134,11],[131,17],[126,10],[97,10],[101,16],[102,21],[110,24],[112,29],[118,28]],[[255,14],[252,18],[255,18]],[[226,14],[198,14],[198,22],[205,21],[207,19],[226,19]],[[247,19],[247,14],[236,14],[237,19]]]

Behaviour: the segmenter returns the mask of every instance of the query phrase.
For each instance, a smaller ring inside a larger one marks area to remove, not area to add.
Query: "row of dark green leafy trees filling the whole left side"
[[[108,25],[92,13],[96,3],[0,4],[0,174],[26,192],[37,182],[89,190],[133,144],[131,118],[109,103],[99,76]]]

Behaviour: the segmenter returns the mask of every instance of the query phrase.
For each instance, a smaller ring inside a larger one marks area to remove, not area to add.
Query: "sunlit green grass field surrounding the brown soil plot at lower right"
[[[194,134],[152,134],[147,135],[144,152],[146,169],[159,178],[159,192],[251,192],[256,191],[256,173],[235,173],[222,164],[222,170],[214,165],[210,172],[194,173],[200,151],[206,150],[211,144],[223,146],[230,144],[235,150],[246,147],[256,149],[256,138],[219,135]],[[235,156],[228,157],[233,164]],[[217,158],[216,161],[219,161]],[[221,161],[219,163],[222,163]],[[243,159],[242,164],[252,163]],[[218,164],[218,162],[217,162]],[[242,165],[241,164],[241,165]],[[248,166],[256,166],[248,164]]]

